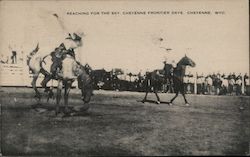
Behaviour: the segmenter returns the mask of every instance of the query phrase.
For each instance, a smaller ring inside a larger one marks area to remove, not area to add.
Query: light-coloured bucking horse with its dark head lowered
[[[48,57],[41,57],[37,54],[39,50],[38,46],[34,49],[30,56],[28,57],[28,66],[33,73],[33,80],[32,80],[32,87],[36,92],[35,97],[37,97],[40,101],[41,95],[36,87],[36,81],[40,73],[43,75],[51,75],[49,70],[44,68],[44,62]],[[49,59],[49,57],[48,57]],[[53,78],[55,79],[55,78]],[[60,73],[57,73],[57,95],[56,95],[56,114],[59,113],[59,103],[61,100],[61,92],[64,86],[64,104],[65,104],[65,112],[68,113],[68,96],[72,86],[72,83],[77,79],[78,81],[78,88],[81,90],[82,93],[82,100],[85,104],[88,105],[93,88],[92,88],[92,81],[89,74],[86,72],[86,68],[77,62],[73,57],[67,55],[65,59],[62,61],[62,70]],[[86,109],[89,108],[89,105]]]

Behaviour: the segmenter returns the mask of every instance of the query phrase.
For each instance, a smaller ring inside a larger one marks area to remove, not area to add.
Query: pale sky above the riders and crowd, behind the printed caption
[[[110,14],[103,15],[102,11]],[[123,14],[131,11],[170,14]],[[215,15],[215,11],[224,14]],[[0,53],[10,54],[12,47],[28,54],[39,43],[39,53],[46,55],[64,42],[68,33],[78,32],[84,36],[83,46],[76,50],[77,59],[93,69],[122,68],[138,73],[161,69],[164,60],[178,62],[186,54],[196,62],[195,68],[187,69],[192,73],[243,74],[249,73],[248,14],[248,1],[244,0],[1,1]],[[167,52],[161,47],[172,50]]]

